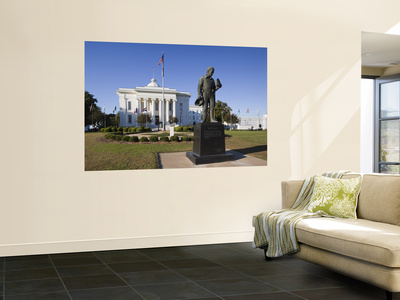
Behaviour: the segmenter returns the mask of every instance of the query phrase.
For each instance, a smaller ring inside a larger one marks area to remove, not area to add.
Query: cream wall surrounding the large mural
[[[359,170],[361,30],[397,3],[2,1],[0,256],[251,240],[281,180]],[[268,47],[268,166],[85,172],[85,41]]]

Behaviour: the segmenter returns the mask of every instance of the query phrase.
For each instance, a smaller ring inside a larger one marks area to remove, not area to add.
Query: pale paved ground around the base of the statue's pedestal
[[[158,159],[160,161],[161,169],[249,167],[267,165],[266,160],[245,155],[237,151],[227,150],[226,153],[233,154],[233,161],[195,165],[186,157],[186,152],[160,153]]]

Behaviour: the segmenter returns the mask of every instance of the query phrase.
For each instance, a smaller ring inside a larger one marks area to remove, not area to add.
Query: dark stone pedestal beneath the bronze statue
[[[186,157],[195,165],[233,160],[225,153],[225,132],[221,123],[201,123],[194,126],[193,152]]]

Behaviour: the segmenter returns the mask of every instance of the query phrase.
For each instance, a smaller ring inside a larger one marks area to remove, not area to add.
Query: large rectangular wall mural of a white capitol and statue
[[[85,42],[85,170],[267,165],[267,48]]]

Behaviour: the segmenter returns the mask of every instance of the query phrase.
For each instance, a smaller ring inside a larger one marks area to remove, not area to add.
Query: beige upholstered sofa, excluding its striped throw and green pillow
[[[283,208],[292,205],[302,183],[282,182]],[[296,235],[295,256],[383,288],[391,299],[400,292],[400,175],[363,175],[357,220],[304,219]]]

